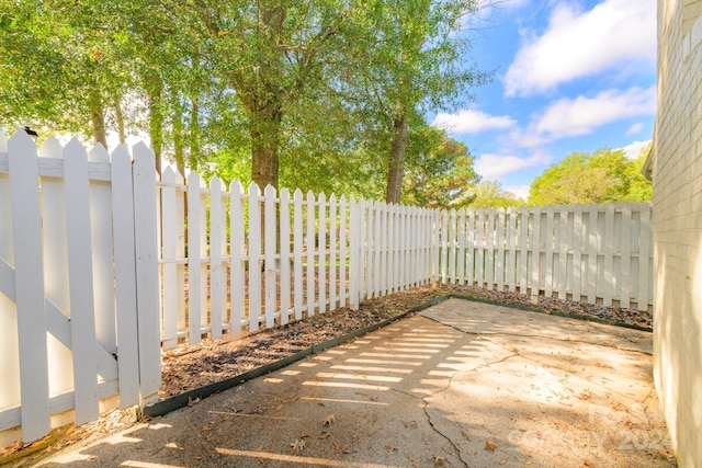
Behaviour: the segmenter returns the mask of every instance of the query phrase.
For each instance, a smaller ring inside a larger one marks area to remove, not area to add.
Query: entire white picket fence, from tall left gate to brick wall
[[[162,349],[437,281],[650,306],[647,205],[446,213],[154,168],[0,132],[0,446],[144,404]]]

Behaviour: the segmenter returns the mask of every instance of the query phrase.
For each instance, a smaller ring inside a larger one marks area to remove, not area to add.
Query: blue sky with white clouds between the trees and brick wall
[[[574,151],[638,156],[656,113],[656,0],[491,3],[468,34],[494,81],[433,118],[468,146],[483,180],[525,198],[534,178]]]

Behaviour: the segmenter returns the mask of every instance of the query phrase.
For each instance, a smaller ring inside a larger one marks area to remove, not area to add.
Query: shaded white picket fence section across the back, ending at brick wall
[[[648,204],[444,212],[440,277],[649,310],[650,212]]]

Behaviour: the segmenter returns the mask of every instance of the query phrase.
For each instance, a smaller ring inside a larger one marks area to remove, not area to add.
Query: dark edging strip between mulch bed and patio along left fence
[[[369,327],[364,327],[359,330],[354,330],[351,333],[347,333],[341,336],[337,336],[332,340],[327,340],[319,344],[313,344],[309,347],[298,351],[295,354],[291,354],[287,357],[275,361],[273,363],[265,364],[261,367],[257,367],[254,369],[248,370],[244,374],[240,374],[236,377],[231,377],[225,380],[216,381],[214,384],[208,384],[203,387],[195,388],[193,390],[186,391],[184,393],[176,395],[173,397],[167,398],[161,401],[157,401],[155,403],[147,404],[144,407],[143,413],[146,416],[162,416],[165,414],[170,413],[171,411],[176,411],[183,407],[186,407],[189,403],[196,401],[202,398],[210,397],[214,393],[218,393],[224,390],[228,390],[230,388],[237,387],[248,380],[254,379],[265,374],[270,374],[272,372],[282,369],[283,367],[287,367],[291,364],[296,363],[297,361],[302,361],[310,354],[316,354],[321,351],[328,350],[330,347],[338,346],[347,341],[353,340],[354,338],[364,335],[383,327],[387,327],[388,324],[396,322],[399,319],[407,317],[410,313],[418,312],[420,310],[427,309],[431,306],[435,306],[446,299],[451,298],[451,296],[438,296],[434,297],[427,303],[423,303],[417,307],[412,307],[405,312],[398,313],[395,317],[390,317],[389,319],[383,320],[382,322],[374,323]]]

